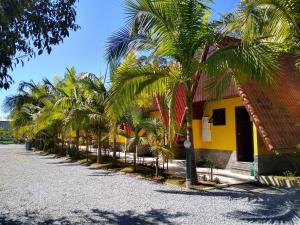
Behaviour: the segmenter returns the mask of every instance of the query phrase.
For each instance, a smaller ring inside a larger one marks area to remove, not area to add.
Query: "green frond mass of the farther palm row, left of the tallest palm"
[[[99,129],[106,131],[105,97],[101,78],[90,73],[77,75],[71,68],[55,83],[22,82],[19,93],[8,96],[4,106],[16,137],[42,139],[45,148],[56,148],[59,136],[71,138],[72,131],[84,130],[89,137]]]

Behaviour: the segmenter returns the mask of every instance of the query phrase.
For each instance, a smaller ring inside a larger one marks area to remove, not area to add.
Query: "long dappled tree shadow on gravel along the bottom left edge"
[[[122,224],[122,225],[154,225],[154,224],[175,224],[174,219],[185,217],[184,213],[169,213],[164,209],[152,209],[145,213],[137,213],[133,210],[124,212],[112,212],[107,210],[92,209],[90,213],[77,210],[70,218],[46,218],[41,220],[38,214],[25,213],[24,215],[13,216],[0,213],[1,225],[79,225],[79,224]]]

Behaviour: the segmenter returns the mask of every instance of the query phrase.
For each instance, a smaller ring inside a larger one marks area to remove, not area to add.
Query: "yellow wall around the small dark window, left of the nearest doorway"
[[[202,121],[193,121],[193,138],[195,149],[236,150],[235,107],[243,106],[239,97],[207,102],[205,117],[211,117],[214,109],[225,108],[226,125],[210,124],[211,141],[202,141]]]

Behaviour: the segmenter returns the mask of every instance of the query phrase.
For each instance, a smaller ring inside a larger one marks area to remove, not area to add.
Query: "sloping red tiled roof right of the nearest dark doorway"
[[[300,143],[300,77],[295,60],[285,56],[274,87],[248,82],[239,88],[249,114],[268,149],[294,148]]]

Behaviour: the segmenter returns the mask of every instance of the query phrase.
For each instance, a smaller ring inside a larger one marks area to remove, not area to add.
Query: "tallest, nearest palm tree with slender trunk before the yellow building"
[[[229,43],[222,49],[215,47],[207,59],[209,46],[222,40],[223,35],[209,22],[210,9],[205,2],[126,1],[128,23],[109,39],[107,60],[119,62],[129,52],[138,50],[148,51],[151,55],[164,57],[173,63],[167,68],[151,68],[132,67],[125,61],[127,70],[120,70],[119,76],[114,80],[111,108],[116,108],[112,106],[114,103],[121,107],[128,105],[138,94],[154,96],[168,91],[174,94],[174,90],[183,85],[186,95],[187,139],[191,139],[192,135],[189,134],[192,133],[193,92],[201,72],[205,71],[219,81],[223,77],[234,75],[237,82],[247,78],[261,83],[270,82],[270,74],[277,69],[277,54],[273,54],[273,49],[263,43]],[[191,153],[191,181],[195,184],[197,173],[193,148]]]

